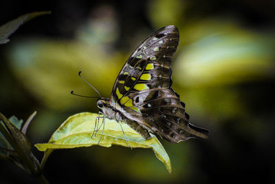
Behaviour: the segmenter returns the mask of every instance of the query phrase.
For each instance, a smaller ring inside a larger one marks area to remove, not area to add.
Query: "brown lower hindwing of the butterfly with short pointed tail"
[[[207,130],[188,122],[189,116],[185,112],[185,105],[173,90],[146,90],[129,97],[133,100],[134,107],[139,110],[133,113],[124,107],[130,118],[145,124],[151,132],[159,134],[168,141],[177,143],[192,137],[207,138]]]

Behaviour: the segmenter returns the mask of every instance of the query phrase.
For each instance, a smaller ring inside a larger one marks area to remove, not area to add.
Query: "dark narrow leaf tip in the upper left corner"
[[[17,19],[13,19],[12,21],[5,23],[4,25],[1,25],[0,26],[0,44],[8,43],[8,41],[10,41],[8,37],[10,37],[10,34],[14,33],[19,28],[20,25],[29,21],[30,19],[33,19],[34,17],[38,17],[43,14],[50,14],[50,12],[32,12],[28,14],[23,14]]]

